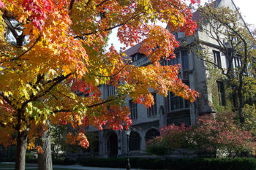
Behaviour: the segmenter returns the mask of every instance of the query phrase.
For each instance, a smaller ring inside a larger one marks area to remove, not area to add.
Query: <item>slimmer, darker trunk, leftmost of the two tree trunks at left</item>
[[[26,142],[28,136],[26,131],[18,131],[17,134],[17,149],[15,158],[15,170],[25,170],[25,158],[26,158]]]

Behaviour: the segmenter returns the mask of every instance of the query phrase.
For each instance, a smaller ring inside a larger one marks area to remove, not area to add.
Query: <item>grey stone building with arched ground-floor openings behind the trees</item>
[[[232,0],[217,0],[214,1],[214,7],[230,7],[236,10],[236,6]],[[194,20],[198,21],[200,16],[198,12],[194,13]],[[209,74],[206,63],[197,58],[197,54],[190,52],[188,47],[195,42],[195,39],[200,39],[203,45],[212,55],[215,63],[222,68],[227,68],[225,55],[219,51],[217,42],[209,38],[203,31],[197,30],[195,36],[185,36],[184,33],[174,33],[178,42],[185,46],[176,49],[176,58],[162,61],[162,64],[181,64],[179,77],[190,88],[197,90],[200,97],[194,103],[184,100],[181,97],[173,96],[169,93],[165,98],[159,96],[152,91],[155,104],[150,108],[144,107],[142,104],[134,104],[130,98],[127,98],[127,106],[129,106],[132,117],[132,133],[129,137],[129,155],[143,156],[146,155],[146,141],[159,135],[159,129],[165,125],[174,123],[176,125],[185,123],[194,125],[197,117],[206,113],[216,112],[213,107],[212,92],[208,82]],[[132,60],[135,66],[145,66],[149,64],[148,58],[139,53],[140,44],[129,48],[125,51],[128,58]],[[235,66],[238,62],[233,62]],[[222,102],[223,83],[216,82],[219,93],[219,102]],[[110,85],[102,86],[102,98],[107,98],[115,94],[115,88]],[[97,156],[99,157],[121,157],[127,154],[127,136],[124,131],[113,131],[105,129],[98,131],[97,128],[88,128],[88,132],[94,133],[99,139]]]

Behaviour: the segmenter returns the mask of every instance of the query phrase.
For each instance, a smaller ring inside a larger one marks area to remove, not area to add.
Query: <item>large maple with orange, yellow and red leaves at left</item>
[[[197,92],[178,79],[178,66],[159,64],[173,56],[175,36],[151,24],[161,20],[192,35],[196,23],[184,1],[1,0],[0,9],[0,142],[17,145],[15,169],[25,169],[27,147],[42,152],[34,142],[48,124],[69,123],[74,131],[67,142],[88,147],[87,125],[131,125],[127,95],[146,107],[154,104],[149,88],[195,101]],[[113,47],[104,50],[113,28],[124,45],[146,37],[142,50],[152,64],[135,67]],[[116,95],[101,98],[101,85],[115,86]]]

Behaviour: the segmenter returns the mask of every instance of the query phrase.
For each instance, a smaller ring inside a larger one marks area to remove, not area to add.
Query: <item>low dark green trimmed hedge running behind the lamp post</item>
[[[125,168],[126,158],[84,158],[83,166]],[[147,159],[130,158],[130,165],[136,169],[171,170],[256,170],[255,158],[183,158],[183,159]]]

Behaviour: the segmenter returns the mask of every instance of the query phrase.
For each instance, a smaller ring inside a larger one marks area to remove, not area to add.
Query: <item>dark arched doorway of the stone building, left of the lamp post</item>
[[[108,150],[108,157],[109,158],[116,158],[117,157],[118,144],[117,144],[117,135],[116,135],[115,132],[112,132],[108,136],[107,150]]]

